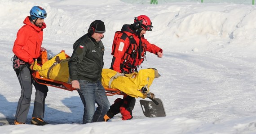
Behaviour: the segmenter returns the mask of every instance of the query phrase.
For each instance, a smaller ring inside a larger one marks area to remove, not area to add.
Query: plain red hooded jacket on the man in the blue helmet
[[[23,21],[25,25],[18,30],[17,38],[13,45],[13,53],[26,63],[33,63],[34,59],[40,56],[41,45],[43,42],[43,29],[31,23],[29,17]]]

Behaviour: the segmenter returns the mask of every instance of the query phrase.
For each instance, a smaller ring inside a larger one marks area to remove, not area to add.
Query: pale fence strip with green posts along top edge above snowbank
[[[230,3],[230,4],[255,4],[255,0],[121,0],[135,4],[165,4],[172,2],[202,2],[202,3]]]

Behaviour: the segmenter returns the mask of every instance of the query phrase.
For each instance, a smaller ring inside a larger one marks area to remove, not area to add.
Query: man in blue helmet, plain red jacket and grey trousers
[[[32,84],[35,86],[35,102],[31,124],[48,124],[44,117],[44,102],[48,87],[38,84],[31,75],[31,65],[40,57],[43,42],[43,29],[46,11],[44,8],[34,6],[30,10],[30,16],[26,17],[13,45],[13,69],[16,72],[22,91],[18,101],[14,124],[25,124],[31,103]]]

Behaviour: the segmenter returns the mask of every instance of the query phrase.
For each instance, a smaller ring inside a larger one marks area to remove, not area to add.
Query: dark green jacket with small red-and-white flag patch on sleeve
[[[68,62],[71,80],[96,82],[102,78],[104,46],[102,41],[85,34],[74,43],[74,51]]]

